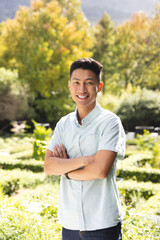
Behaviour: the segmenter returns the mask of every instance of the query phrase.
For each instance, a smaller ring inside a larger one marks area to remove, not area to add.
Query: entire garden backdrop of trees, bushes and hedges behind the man
[[[0,23],[0,240],[61,240],[60,179],[43,161],[56,123],[75,109],[69,68],[84,56],[103,65],[98,102],[134,133],[117,168],[123,240],[159,239],[159,26],[159,5],[152,17],[115,25],[105,13],[92,25],[77,0],[35,0]]]

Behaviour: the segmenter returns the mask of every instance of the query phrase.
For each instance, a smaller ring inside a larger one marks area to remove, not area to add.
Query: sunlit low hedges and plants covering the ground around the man
[[[50,138],[50,129],[36,123],[33,134],[0,138],[1,240],[61,239],[59,177],[46,176],[43,171]],[[145,130],[143,135],[127,140],[126,157],[118,163],[124,240],[159,239],[159,146],[160,136]]]

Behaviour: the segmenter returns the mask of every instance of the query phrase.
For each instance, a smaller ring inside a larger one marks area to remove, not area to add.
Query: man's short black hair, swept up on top
[[[103,69],[103,65],[98,61],[94,60],[93,58],[80,58],[74,61],[70,66],[70,78],[74,70],[82,68],[86,70],[93,71],[97,78],[98,82],[101,80],[101,71]]]

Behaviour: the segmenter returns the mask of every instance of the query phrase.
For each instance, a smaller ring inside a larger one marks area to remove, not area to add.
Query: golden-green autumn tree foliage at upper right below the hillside
[[[94,49],[100,54],[97,55],[98,60],[104,65],[107,91],[120,94],[128,84],[159,90],[158,7],[152,19],[143,12],[135,13],[130,20],[118,25],[115,30],[113,27],[109,28],[110,22],[108,25],[102,25],[104,18],[106,17],[104,16],[100,21],[101,24],[96,27]],[[102,25],[101,31],[99,31],[100,25]],[[103,38],[104,32],[106,36]],[[101,44],[100,48],[98,43]]]

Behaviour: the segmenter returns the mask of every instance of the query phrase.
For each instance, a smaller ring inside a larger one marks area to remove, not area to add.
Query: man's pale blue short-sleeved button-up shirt
[[[114,113],[99,104],[82,120],[76,111],[61,118],[48,146],[64,144],[69,158],[89,156],[99,150],[117,152],[114,165],[105,179],[90,181],[68,180],[61,177],[58,218],[67,229],[91,231],[113,227],[122,220],[116,186],[116,163],[123,159],[125,133]]]

